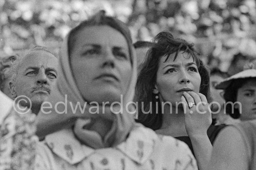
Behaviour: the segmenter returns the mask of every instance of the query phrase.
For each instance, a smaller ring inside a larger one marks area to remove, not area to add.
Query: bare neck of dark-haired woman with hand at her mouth
[[[156,133],[168,135],[172,137],[188,136],[185,128],[184,111],[183,108],[170,107],[165,105],[164,113],[162,115],[162,126]]]

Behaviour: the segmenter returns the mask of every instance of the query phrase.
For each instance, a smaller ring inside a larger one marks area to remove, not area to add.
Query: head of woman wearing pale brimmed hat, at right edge
[[[256,119],[255,69],[244,70],[223,80],[216,85],[216,89],[224,90],[223,97],[226,101],[226,112],[232,118],[240,118],[241,121]]]

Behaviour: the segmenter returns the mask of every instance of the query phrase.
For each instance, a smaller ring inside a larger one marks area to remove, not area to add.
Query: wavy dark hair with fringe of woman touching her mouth
[[[164,61],[166,62],[170,54],[175,53],[175,60],[178,53],[188,53],[190,57],[193,57],[201,76],[200,93],[205,95],[208,101],[210,100],[210,86],[209,72],[202,60],[197,56],[198,53],[195,52],[193,44],[188,43],[184,39],[175,39],[173,35],[168,32],[161,32],[157,34],[152,41],[155,43],[155,45],[148,50],[146,60],[138,74],[135,89],[135,101],[138,101],[139,104],[138,119],[136,122],[139,122],[153,130],[157,130],[162,126],[162,111],[160,100],[159,98],[155,98],[156,95],[153,94],[153,89],[155,89],[156,74],[159,61],[162,56],[167,56]],[[152,102],[151,109],[150,102]],[[156,113],[156,108],[158,108],[158,113],[160,114]],[[151,110],[152,114],[144,114],[142,109],[144,113]]]

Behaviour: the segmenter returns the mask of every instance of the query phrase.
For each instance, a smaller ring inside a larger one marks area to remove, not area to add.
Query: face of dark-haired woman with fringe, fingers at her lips
[[[201,84],[193,57],[189,57],[187,53],[179,53],[173,61],[174,57],[175,53],[170,54],[166,62],[166,57],[160,58],[154,90],[154,93],[159,92],[161,102],[171,102],[172,106],[175,106],[175,102],[181,102],[184,91],[199,93]]]

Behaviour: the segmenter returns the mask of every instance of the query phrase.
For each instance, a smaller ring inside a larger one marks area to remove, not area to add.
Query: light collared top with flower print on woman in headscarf
[[[72,129],[48,135],[37,146],[36,170],[197,170],[183,142],[137,126],[127,140],[112,148],[92,149]]]

